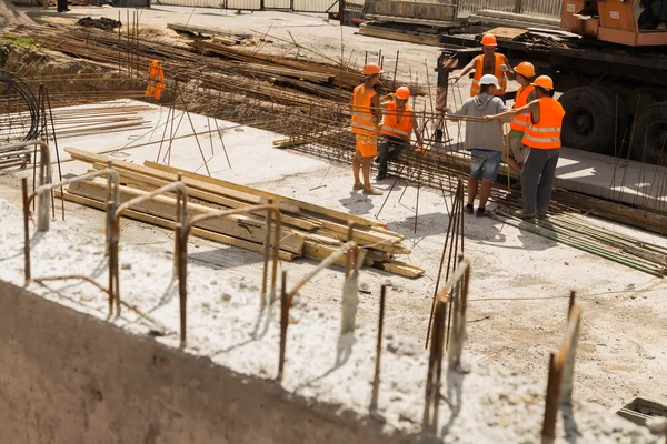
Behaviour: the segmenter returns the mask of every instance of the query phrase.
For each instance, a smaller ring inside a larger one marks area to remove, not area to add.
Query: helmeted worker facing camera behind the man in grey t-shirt
[[[498,79],[498,89],[496,91],[496,95],[500,97],[502,101],[505,101],[505,91],[507,90],[506,72],[511,72],[511,70],[508,68],[509,61],[507,61],[507,58],[504,54],[496,52],[497,48],[498,43],[496,41],[496,36],[490,33],[484,34],[481,37],[482,54],[477,56],[461,70],[461,72],[451,78],[455,82],[458,82],[461,77],[475,70],[472,84],[470,85],[470,97],[479,95],[479,80],[482,75],[490,74]]]

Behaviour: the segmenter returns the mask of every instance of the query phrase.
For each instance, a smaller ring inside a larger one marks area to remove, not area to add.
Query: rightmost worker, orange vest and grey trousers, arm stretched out
[[[494,121],[507,117],[529,115],[524,144],[530,147],[530,153],[521,173],[524,198],[521,218],[524,219],[547,214],[560,153],[560,129],[565,117],[565,110],[554,99],[554,81],[550,77],[540,75],[535,79],[532,85],[537,99],[521,108],[485,119]]]

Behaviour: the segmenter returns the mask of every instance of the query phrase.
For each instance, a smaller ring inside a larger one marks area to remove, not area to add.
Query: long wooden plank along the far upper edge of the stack
[[[66,149],[67,150],[67,149]],[[336,211],[336,210],[331,210],[325,206],[320,206],[320,205],[316,205],[312,203],[308,203],[308,202],[303,202],[303,201],[299,201],[296,199],[291,199],[291,198],[286,198],[279,194],[273,194],[270,193],[268,191],[262,191],[262,190],[257,190],[250,186],[246,186],[246,185],[240,185],[237,183],[232,183],[232,182],[227,182],[223,181],[221,179],[216,179],[216,178],[209,178],[207,175],[201,175],[201,174],[197,174],[197,173],[192,173],[189,171],[181,171],[177,168],[173,167],[167,167],[167,165],[162,165],[159,163],[155,163],[155,162],[143,162],[143,164],[146,167],[149,167],[151,169],[156,169],[156,170],[161,170],[165,172],[170,172],[170,173],[177,173],[177,172],[181,172],[183,178],[190,178],[190,179],[196,179],[199,180],[201,182],[206,182],[206,183],[210,183],[213,185],[219,185],[219,186],[225,186],[228,189],[233,189],[233,190],[238,190],[238,191],[242,191],[245,193],[253,193],[258,196],[261,196],[263,199],[272,199],[275,202],[280,202],[282,204],[289,204],[289,205],[293,205],[300,210],[306,210],[306,211],[310,211],[313,214],[318,214],[318,215],[323,215],[323,216],[328,216],[330,219],[334,220],[338,220],[338,221],[342,221],[347,224],[348,221],[354,222],[356,225],[359,226],[385,226],[385,224],[382,224],[381,222],[375,222],[375,221],[370,221],[366,218],[361,218],[358,215],[354,215],[354,214],[347,214],[340,211]]]

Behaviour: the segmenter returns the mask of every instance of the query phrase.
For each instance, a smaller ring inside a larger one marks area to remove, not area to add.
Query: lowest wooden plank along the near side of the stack
[[[54,193],[56,193],[57,198],[60,198],[60,194],[61,194],[60,190],[56,190]],[[74,203],[78,203],[78,204],[81,204],[81,205],[90,206],[92,209],[106,211],[106,204],[103,202],[98,201],[98,200],[89,199],[89,198],[83,198],[82,195],[72,194],[72,193],[68,192],[67,190],[64,191],[63,196],[64,196],[64,200],[68,201],[68,202],[74,202]],[[125,215],[128,216],[129,219],[133,219],[133,220],[140,221],[140,222],[150,223],[151,225],[161,226],[163,229],[173,230],[173,226],[176,225],[176,222],[173,222],[173,221],[169,221],[167,219],[158,218],[158,216],[146,214],[146,213],[140,213],[140,212],[135,211],[135,210],[128,210],[128,211],[126,211]],[[196,235],[197,238],[202,238],[202,239],[207,239],[209,241],[216,241],[216,242],[225,243],[225,244],[231,245],[231,246],[238,246],[240,249],[253,251],[256,253],[262,253],[263,252],[263,245],[260,245],[260,244],[257,244],[257,243],[253,243],[253,242],[249,242],[249,241],[245,241],[242,239],[232,238],[232,236],[228,236],[228,235],[225,235],[225,234],[216,233],[213,231],[209,231],[209,230],[205,230],[205,229],[199,229],[197,226],[195,226],[192,229],[191,233],[192,233],[192,235]],[[278,258],[281,261],[292,261],[295,259],[295,255],[292,253],[287,252],[287,251],[280,250],[279,253],[278,253]]]

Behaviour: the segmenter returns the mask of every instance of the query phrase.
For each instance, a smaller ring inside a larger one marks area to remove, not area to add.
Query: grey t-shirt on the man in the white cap
[[[466,100],[456,115],[469,115],[482,118],[485,115],[499,114],[507,111],[507,107],[500,98],[482,93]],[[505,138],[502,135],[502,123],[498,120],[492,122],[466,122],[466,150],[490,150],[505,151]]]

